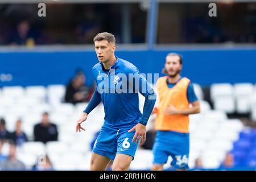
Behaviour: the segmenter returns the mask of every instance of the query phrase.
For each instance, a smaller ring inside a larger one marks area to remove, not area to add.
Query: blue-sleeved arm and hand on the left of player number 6
[[[85,108],[81,117],[77,121],[76,132],[77,131],[81,132],[81,130],[85,130],[84,128],[81,127],[81,123],[87,119],[87,116],[90,113],[90,111],[92,111],[95,107],[97,107],[97,105],[100,104],[100,102],[101,102],[101,94],[98,93],[97,90],[95,90],[92,98],[90,99],[88,106]]]

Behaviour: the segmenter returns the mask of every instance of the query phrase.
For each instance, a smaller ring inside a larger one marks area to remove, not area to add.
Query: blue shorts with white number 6
[[[132,143],[135,130],[128,132],[135,125],[114,127],[104,123],[94,143],[93,152],[114,160],[116,154],[126,154],[134,158],[138,143]]]

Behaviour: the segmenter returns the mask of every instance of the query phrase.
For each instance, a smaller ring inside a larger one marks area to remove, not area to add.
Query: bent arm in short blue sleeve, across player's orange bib
[[[200,102],[196,97],[195,90],[193,89],[193,85],[190,83],[188,85],[187,90],[187,98],[192,107],[188,109],[177,109],[173,105],[169,105],[166,109],[163,110],[164,114],[197,114],[200,113]]]

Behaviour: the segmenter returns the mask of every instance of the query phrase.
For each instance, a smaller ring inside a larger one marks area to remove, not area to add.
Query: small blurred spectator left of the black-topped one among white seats
[[[27,142],[27,135],[22,131],[22,121],[20,119],[16,121],[16,129],[11,133],[11,139],[17,146],[21,146],[24,142]]]

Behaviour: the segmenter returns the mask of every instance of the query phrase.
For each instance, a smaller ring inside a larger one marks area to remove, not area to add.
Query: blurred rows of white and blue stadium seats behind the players
[[[194,85],[195,86],[195,85]],[[48,154],[55,169],[63,170],[88,170],[90,158],[90,143],[94,133],[100,130],[104,118],[103,106],[100,104],[90,113],[88,121],[84,123],[86,129],[83,133],[75,133],[75,122],[84,110],[86,103],[76,105],[65,104],[64,85],[44,86],[5,86],[1,90],[1,117],[7,121],[7,129],[14,130],[16,119],[23,121],[23,130],[28,136],[28,142],[18,147],[17,156],[26,164],[28,169],[36,163],[40,155]],[[228,97],[232,103],[247,97],[250,93],[253,97],[255,90],[251,84],[214,84],[210,88],[211,98],[215,103],[214,109],[210,108],[207,101],[203,100],[201,86],[196,84],[195,92],[201,100],[201,113],[190,116],[191,145],[189,166],[195,166],[195,159],[201,158],[204,168],[218,168],[228,152],[232,152],[238,166],[255,166],[256,133],[254,129],[243,126],[240,119],[229,119],[226,113],[230,110],[219,104],[223,98]],[[233,93],[233,89],[236,90]],[[243,95],[245,92],[246,95]],[[57,95],[57,97],[55,97]],[[248,98],[248,102],[251,100]],[[26,98],[29,98],[26,100]],[[54,98],[54,102],[51,99]],[[143,103],[142,98],[141,103]],[[7,101],[14,101],[10,106]],[[237,101],[236,100],[236,101]],[[250,104],[246,102],[246,111],[250,110]],[[34,104],[37,104],[34,107]],[[56,105],[57,104],[57,105]],[[254,103],[255,104],[255,103]],[[230,107],[230,105],[229,105]],[[232,108],[233,105],[231,106]],[[254,108],[253,106],[251,108]],[[5,110],[3,112],[3,110]],[[141,109],[143,105],[141,104]],[[33,126],[40,120],[44,111],[49,111],[50,119],[56,123],[59,129],[59,141],[33,142]],[[11,114],[10,114],[11,113]],[[151,117],[150,119],[154,119]],[[8,154],[9,144],[2,147],[2,154]],[[88,160],[86,160],[88,158]],[[84,163],[81,163],[84,162]],[[164,169],[170,168],[171,158],[164,165]],[[152,165],[152,151],[138,149],[131,169],[150,169]]]

